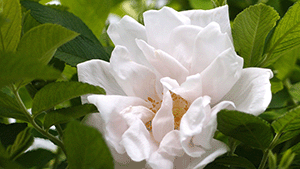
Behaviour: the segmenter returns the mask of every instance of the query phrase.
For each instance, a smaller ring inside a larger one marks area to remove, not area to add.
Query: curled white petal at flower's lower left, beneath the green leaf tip
[[[102,123],[99,127],[104,128],[102,130],[104,131],[104,136],[108,144],[112,145],[118,153],[125,153],[125,149],[120,145],[120,141],[128,125],[120,112],[129,106],[148,107],[149,104],[136,97],[112,95],[91,95],[88,96],[88,101],[94,104],[100,112],[103,122],[99,121],[100,124]]]

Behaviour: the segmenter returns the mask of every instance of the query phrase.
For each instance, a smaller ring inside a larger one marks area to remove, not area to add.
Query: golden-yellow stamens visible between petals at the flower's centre
[[[181,118],[186,113],[186,111],[189,109],[190,104],[188,103],[188,101],[186,101],[181,96],[179,96],[171,91],[170,91],[170,93],[171,93],[171,97],[173,100],[172,112],[174,115],[174,130],[179,130]],[[150,108],[150,110],[153,111],[154,113],[156,113],[159,110],[159,108],[161,107],[162,101],[157,102],[150,97],[148,97],[148,100],[146,100],[146,101],[150,102],[152,104],[152,107]],[[146,125],[147,129],[151,132],[152,131],[152,120],[148,121],[145,125]]]

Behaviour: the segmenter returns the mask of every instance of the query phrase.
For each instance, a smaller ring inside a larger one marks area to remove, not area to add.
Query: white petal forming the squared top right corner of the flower
[[[211,10],[190,10],[181,12],[191,19],[191,24],[206,27],[211,22],[217,22],[221,26],[221,31],[231,37],[230,20],[228,6],[221,6]]]

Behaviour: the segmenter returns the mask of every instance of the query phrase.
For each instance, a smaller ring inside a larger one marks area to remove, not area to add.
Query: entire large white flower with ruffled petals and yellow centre
[[[107,95],[83,97],[100,113],[85,122],[104,135],[116,168],[203,168],[227,146],[213,138],[216,115],[259,115],[271,100],[269,69],[245,68],[233,46],[228,6],[125,16],[110,25],[110,63],[78,65],[82,82]]]

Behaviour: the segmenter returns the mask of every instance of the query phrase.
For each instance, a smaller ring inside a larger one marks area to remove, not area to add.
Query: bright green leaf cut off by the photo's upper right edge
[[[300,47],[300,2],[296,2],[280,20],[267,45],[267,57],[261,66],[269,66],[281,56]]]

